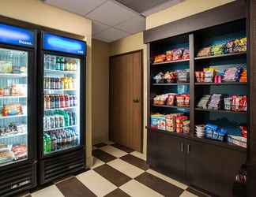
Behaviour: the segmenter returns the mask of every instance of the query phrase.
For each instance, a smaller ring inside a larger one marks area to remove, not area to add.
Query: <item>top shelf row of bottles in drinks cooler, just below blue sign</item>
[[[56,57],[53,55],[44,56],[44,66],[46,69],[76,71],[77,60],[73,58]]]

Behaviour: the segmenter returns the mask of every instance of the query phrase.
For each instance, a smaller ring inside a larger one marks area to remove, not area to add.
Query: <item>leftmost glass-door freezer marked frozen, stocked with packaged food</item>
[[[36,34],[0,23],[0,196],[36,186]]]

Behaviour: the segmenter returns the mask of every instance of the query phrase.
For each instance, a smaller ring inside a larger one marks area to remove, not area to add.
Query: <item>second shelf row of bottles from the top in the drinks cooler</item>
[[[52,90],[75,89],[76,79],[68,76],[62,76],[62,77],[44,76],[43,87],[44,89],[52,89]]]

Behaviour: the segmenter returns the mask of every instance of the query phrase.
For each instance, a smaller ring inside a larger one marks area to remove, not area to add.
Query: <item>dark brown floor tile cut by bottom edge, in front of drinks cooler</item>
[[[56,186],[65,197],[96,197],[96,195],[77,180],[76,177],[64,180],[56,184]]]

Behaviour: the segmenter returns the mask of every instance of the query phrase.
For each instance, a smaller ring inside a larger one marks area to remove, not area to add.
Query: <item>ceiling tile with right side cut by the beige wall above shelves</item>
[[[129,32],[131,34],[145,31],[145,17],[133,17],[121,24],[116,25],[115,28],[119,28],[122,31]]]

